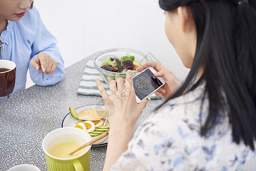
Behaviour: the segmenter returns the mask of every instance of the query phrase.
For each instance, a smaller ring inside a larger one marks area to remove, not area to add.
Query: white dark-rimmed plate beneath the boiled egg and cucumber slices
[[[84,109],[105,109],[104,105],[97,105],[97,104],[92,104],[92,105],[84,105],[82,107],[76,108],[76,112],[79,113],[83,111]],[[67,115],[64,117],[62,120],[62,127],[74,127],[74,125],[79,121],[79,119],[74,119],[70,115],[70,113],[67,113]],[[103,142],[100,144],[92,144],[92,146],[102,146],[102,145],[107,145],[108,144],[108,137],[105,139]]]

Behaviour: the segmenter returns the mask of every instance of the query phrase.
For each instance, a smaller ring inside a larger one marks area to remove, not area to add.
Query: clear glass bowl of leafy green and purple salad
[[[107,84],[119,77],[125,79],[128,70],[132,70],[135,76],[136,68],[147,62],[143,52],[131,48],[111,48],[97,52],[94,57],[94,66]]]

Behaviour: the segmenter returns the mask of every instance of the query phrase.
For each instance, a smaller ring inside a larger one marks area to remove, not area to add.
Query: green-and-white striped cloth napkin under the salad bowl
[[[80,81],[77,93],[80,95],[95,95],[101,96],[100,91],[96,86],[95,79],[99,79],[105,91],[110,95],[110,90],[108,84],[101,78],[99,72],[94,67],[94,61],[90,60],[86,69],[84,70],[82,79]],[[159,99],[160,97],[155,94],[151,95],[151,99]]]

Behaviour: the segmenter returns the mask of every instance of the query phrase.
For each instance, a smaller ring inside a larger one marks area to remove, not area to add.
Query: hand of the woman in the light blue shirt
[[[30,61],[30,64],[35,70],[39,70],[41,73],[44,72],[45,74],[54,73],[57,67],[57,62],[44,52],[40,52],[35,59]]]

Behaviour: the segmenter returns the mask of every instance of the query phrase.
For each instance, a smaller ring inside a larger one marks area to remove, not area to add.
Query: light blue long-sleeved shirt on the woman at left
[[[9,96],[0,97],[0,101],[25,89],[28,68],[31,79],[39,86],[56,84],[66,75],[63,59],[56,47],[57,41],[44,26],[35,6],[28,10],[21,20],[8,21],[6,30],[0,35],[0,40],[3,43],[0,45],[1,59],[11,60],[16,64],[14,91]],[[50,55],[57,62],[53,74],[40,73],[30,65],[30,60],[39,52]]]

